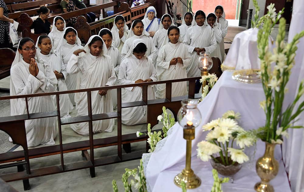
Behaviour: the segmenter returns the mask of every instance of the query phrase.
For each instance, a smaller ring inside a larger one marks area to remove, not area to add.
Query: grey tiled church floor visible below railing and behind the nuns
[[[228,34],[225,37],[225,42],[232,41],[234,36],[245,30],[244,27],[237,26],[238,21],[229,20]],[[229,48],[231,44],[225,43],[225,48]],[[0,87],[9,88],[10,78],[0,80]],[[0,93],[1,96],[7,96],[9,94]],[[10,105],[9,101],[0,101],[0,116],[9,116]],[[75,115],[75,112],[71,114]],[[116,125],[115,125],[116,126]],[[160,126],[160,125],[158,125]],[[136,131],[145,130],[146,125],[136,125],[136,126],[124,126],[122,127],[123,134],[126,133],[136,133]],[[69,126],[63,126],[62,128],[63,143],[69,143],[74,141],[88,140],[88,136],[81,136],[75,133]],[[111,133],[97,133],[94,135],[94,138],[104,138],[117,135],[117,129],[114,128]],[[58,144],[58,137],[56,138],[56,144]],[[132,144],[132,150],[144,150],[145,142],[139,142]],[[0,131],[0,153],[6,152],[12,149],[14,145],[8,141],[8,135]],[[41,146],[39,146],[41,147]],[[95,156],[106,156],[116,154],[116,146],[101,148],[94,150]],[[21,147],[14,150],[22,150]],[[81,152],[73,152],[64,154],[65,163],[82,161]],[[44,158],[31,159],[31,168],[36,169],[39,167],[59,165],[60,156],[53,155]],[[115,179],[119,188],[119,191],[124,191],[123,183],[121,182],[121,176],[125,172],[125,168],[136,168],[139,165],[139,160],[123,162],[113,165],[105,165],[101,167],[96,167],[96,177],[91,178],[88,169],[60,173],[49,176],[36,177],[29,180],[31,184],[30,191],[103,191],[110,192],[112,191],[112,180]],[[16,168],[1,169],[0,174],[7,172],[15,172]],[[10,182],[10,185],[16,190],[23,191],[22,181]]]

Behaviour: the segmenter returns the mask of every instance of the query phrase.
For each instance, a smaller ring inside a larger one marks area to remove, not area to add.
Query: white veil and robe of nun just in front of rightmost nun
[[[208,16],[209,15],[213,15],[216,18],[216,15],[214,13],[209,13]],[[208,16],[206,17],[205,24],[206,26],[210,27],[210,25],[207,22]],[[221,30],[221,24],[217,23],[217,19],[215,20],[212,29],[214,31],[214,37],[216,39],[216,49],[212,53],[210,53],[210,56],[218,57],[219,60],[222,62],[221,48],[219,45],[222,42],[222,30]]]

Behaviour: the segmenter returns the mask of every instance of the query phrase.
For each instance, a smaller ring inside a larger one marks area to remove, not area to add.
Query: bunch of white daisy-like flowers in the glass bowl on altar
[[[240,113],[231,110],[203,126],[203,131],[209,133],[206,140],[197,144],[197,156],[202,161],[209,161],[212,158],[214,162],[227,166],[236,162],[242,164],[249,160],[243,150],[252,146],[256,142],[256,137],[252,131],[245,131],[238,125],[239,118]],[[233,148],[234,141],[240,149]],[[216,158],[216,154],[219,154],[219,158]]]

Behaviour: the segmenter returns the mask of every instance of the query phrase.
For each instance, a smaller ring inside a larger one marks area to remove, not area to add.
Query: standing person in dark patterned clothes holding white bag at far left
[[[3,0],[0,0],[0,48],[8,48],[9,46],[9,22],[14,23],[14,20],[9,19],[8,9]]]

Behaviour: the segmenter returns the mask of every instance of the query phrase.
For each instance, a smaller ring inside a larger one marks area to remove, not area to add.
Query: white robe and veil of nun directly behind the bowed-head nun
[[[134,21],[133,21],[133,23],[134,23]],[[132,23],[132,25],[133,25],[133,23]],[[143,30],[143,33],[140,36],[137,36],[134,34],[132,29],[129,31],[128,38],[127,38],[125,44],[123,45],[123,49],[121,50],[121,59],[123,59],[126,56],[126,54],[130,50],[130,47],[133,45],[133,42],[136,39],[142,39],[145,42],[145,44],[147,46],[147,51],[146,51],[145,56],[150,58],[152,61],[156,60],[157,49],[155,48],[155,45],[153,44],[153,40],[152,40],[152,37],[150,37],[150,34],[147,31]]]

